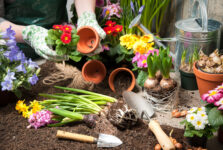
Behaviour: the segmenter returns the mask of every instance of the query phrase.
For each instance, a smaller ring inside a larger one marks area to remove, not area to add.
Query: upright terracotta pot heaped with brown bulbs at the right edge
[[[223,55],[215,50],[209,56],[202,51],[199,61],[194,63],[193,71],[196,76],[200,96],[214,89],[223,81]]]

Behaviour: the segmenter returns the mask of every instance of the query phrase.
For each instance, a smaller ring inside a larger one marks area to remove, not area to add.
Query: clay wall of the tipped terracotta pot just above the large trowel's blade
[[[110,89],[113,92],[115,92],[114,79],[119,72],[128,72],[131,75],[132,81],[131,81],[131,85],[128,87],[127,91],[133,90],[133,88],[135,87],[135,84],[136,84],[136,79],[135,79],[135,75],[133,74],[133,72],[131,70],[129,70],[128,68],[117,68],[111,72],[111,74],[109,75],[109,79],[108,79],[108,84],[109,84]]]

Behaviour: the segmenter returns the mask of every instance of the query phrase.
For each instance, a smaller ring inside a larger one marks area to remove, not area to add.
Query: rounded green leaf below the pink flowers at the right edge
[[[223,125],[223,114],[217,107],[214,107],[208,113],[208,121],[212,126],[218,127]]]

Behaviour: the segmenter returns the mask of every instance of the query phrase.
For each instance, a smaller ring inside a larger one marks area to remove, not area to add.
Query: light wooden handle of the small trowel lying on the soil
[[[92,136],[87,136],[83,134],[70,133],[58,130],[56,137],[63,139],[70,139],[75,141],[87,142],[87,143],[96,143],[97,139]]]

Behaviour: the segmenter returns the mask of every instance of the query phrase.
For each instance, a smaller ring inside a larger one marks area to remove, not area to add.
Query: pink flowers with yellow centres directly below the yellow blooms
[[[147,57],[149,56],[149,54],[154,55],[154,53],[159,55],[159,50],[149,50],[146,54],[140,54],[139,52],[136,52],[135,56],[132,58],[132,63],[137,63],[137,67],[139,68],[147,68]]]

